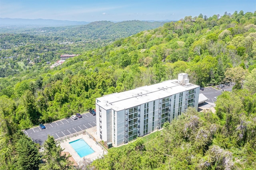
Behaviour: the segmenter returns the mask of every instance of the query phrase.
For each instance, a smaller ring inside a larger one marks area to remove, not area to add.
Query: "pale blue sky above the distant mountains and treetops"
[[[180,20],[256,11],[256,0],[0,0],[0,18],[69,21]]]

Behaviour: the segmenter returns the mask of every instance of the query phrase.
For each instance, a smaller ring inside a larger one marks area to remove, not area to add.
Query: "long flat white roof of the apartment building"
[[[178,83],[178,80],[167,80],[150,86],[142,86],[126,92],[109,94],[97,98],[97,105],[108,110],[120,111],[134,106],[165,98],[173,94],[184,92],[199,87],[188,82]]]

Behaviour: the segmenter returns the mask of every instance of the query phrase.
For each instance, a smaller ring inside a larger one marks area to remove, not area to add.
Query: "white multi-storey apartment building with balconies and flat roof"
[[[198,109],[199,91],[180,73],[178,80],[96,98],[97,135],[116,147],[161,129],[188,107]]]

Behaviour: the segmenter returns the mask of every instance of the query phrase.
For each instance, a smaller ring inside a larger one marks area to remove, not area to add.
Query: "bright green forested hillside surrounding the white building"
[[[102,95],[176,79],[180,72],[200,86],[236,85],[218,97],[216,113],[191,109],[166,123],[152,139],[139,138],[110,149],[83,169],[254,169],[255,40],[256,12],[209,18],[200,14],[94,49],[82,47],[81,55],[52,70],[43,64],[24,65],[21,70],[14,57],[8,59],[3,65],[16,72],[0,78],[0,169],[72,169],[51,137],[44,143],[48,149],[40,153],[39,146],[20,131],[94,108],[95,98]],[[21,47],[27,52],[24,58],[34,55],[34,49]],[[72,44],[55,48],[76,53]],[[0,52],[17,53],[11,47]]]

